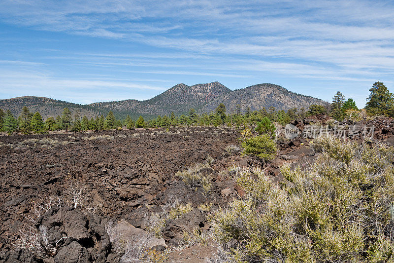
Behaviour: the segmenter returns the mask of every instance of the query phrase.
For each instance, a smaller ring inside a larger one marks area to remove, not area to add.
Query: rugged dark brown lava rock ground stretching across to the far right
[[[230,128],[2,136],[0,263],[127,262],[125,246],[135,243],[164,251],[149,255],[157,262],[207,262],[216,248],[206,216],[237,198],[237,167],[263,165],[283,180],[284,162],[314,159],[302,132],[316,123],[334,124],[327,116],[296,120],[300,135],[281,134],[277,157],[266,164],[241,157],[239,132]],[[393,119],[339,124],[374,125],[374,139],[394,143]],[[198,178],[187,184],[187,175]],[[36,249],[42,237],[33,238],[35,248],[23,239],[33,235],[29,227],[47,233],[44,253]]]

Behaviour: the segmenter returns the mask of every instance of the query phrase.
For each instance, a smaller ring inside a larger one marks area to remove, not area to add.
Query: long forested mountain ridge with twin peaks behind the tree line
[[[19,115],[23,106],[27,106],[32,112],[38,111],[43,117],[56,116],[68,107],[72,113],[93,117],[113,111],[119,118],[130,115],[136,118],[142,115],[144,118],[153,118],[157,115],[187,114],[190,108],[198,113],[214,111],[219,103],[224,103],[228,113],[233,112],[237,105],[242,112],[248,107],[260,110],[273,106],[276,110],[288,110],[290,108],[307,109],[312,104],[326,104],[323,100],[312,96],[298,94],[288,89],[271,83],[261,83],[245,88],[230,90],[218,81],[186,85],[178,83],[157,96],[139,101],[126,99],[110,102],[95,102],[91,104],[75,104],[66,101],[55,100],[46,97],[22,96],[0,100],[0,108],[10,109],[14,115]]]

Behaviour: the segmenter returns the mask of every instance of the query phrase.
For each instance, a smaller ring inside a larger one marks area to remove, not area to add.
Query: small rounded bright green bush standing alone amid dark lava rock
[[[255,155],[265,161],[271,160],[276,155],[276,143],[268,134],[246,139],[241,143],[244,155]]]

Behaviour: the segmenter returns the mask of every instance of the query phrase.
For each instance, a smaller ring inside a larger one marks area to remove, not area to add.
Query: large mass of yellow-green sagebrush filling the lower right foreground
[[[393,262],[393,147],[319,138],[292,184],[238,173],[246,194],[209,217],[224,262]]]

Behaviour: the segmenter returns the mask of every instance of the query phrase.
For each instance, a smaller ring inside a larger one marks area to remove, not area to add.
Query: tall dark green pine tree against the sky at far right
[[[375,82],[369,89],[365,110],[372,114],[390,115],[394,108],[394,95],[382,82]]]

